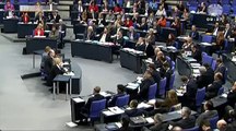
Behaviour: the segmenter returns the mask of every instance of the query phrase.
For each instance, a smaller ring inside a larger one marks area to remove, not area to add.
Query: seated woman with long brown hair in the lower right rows
[[[168,91],[167,97],[165,98],[164,102],[158,102],[156,100],[156,108],[160,108],[161,112],[168,112],[169,109],[178,104],[178,97],[177,94],[174,90]]]

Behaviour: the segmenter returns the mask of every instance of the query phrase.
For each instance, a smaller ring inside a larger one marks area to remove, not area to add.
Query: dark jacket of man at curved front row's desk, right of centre
[[[140,93],[139,93],[139,98],[140,99],[148,99],[149,96],[149,87],[151,85],[153,85],[155,83],[155,81],[153,80],[153,78],[151,79],[145,79],[142,81],[142,83],[140,84]]]

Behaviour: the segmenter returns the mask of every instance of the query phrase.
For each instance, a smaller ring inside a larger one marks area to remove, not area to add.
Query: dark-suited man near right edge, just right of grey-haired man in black
[[[205,99],[211,99],[215,96],[217,96],[219,90],[222,87],[222,73],[217,72],[214,75],[214,82],[205,87]]]

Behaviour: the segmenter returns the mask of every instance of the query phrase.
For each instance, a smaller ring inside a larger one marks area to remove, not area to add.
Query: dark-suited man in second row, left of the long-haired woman
[[[135,100],[135,99],[131,100],[130,104],[129,104],[130,109],[127,109],[125,111],[125,114],[128,117],[138,117],[138,116],[144,115],[144,111],[142,109],[137,108],[138,105],[139,105],[138,100]]]

